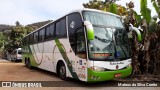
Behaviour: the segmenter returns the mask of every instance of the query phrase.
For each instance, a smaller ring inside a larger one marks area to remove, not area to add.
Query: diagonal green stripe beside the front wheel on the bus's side
[[[77,74],[76,74],[75,72],[73,72],[72,64],[71,64],[71,62],[70,62],[69,59],[68,59],[68,56],[67,56],[67,54],[66,54],[66,51],[65,51],[64,48],[63,48],[63,45],[60,43],[60,41],[59,41],[57,38],[55,39],[55,42],[56,42],[56,45],[57,45],[57,47],[58,47],[58,49],[59,49],[59,51],[60,51],[63,59],[64,59],[65,62],[67,63],[67,67],[69,68],[69,71],[70,71],[71,75],[72,75],[75,79],[78,79],[78,80],[79,80]]]

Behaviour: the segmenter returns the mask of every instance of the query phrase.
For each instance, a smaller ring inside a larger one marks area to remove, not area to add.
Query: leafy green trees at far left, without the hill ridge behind
[[[22,38],[28,33],[33,31],[30,26],[22,26],[17,21],[16,26],[13,27],[13,30],[4,31],[0,33],[0,48],[1,50],[12,50],[17,47],[22,46]]]

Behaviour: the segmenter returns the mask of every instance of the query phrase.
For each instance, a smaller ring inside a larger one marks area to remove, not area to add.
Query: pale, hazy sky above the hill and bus
[[[117,4],[126,6],[130,0],[120,0]],[[140,0],[132,0],[135,10],[140,10]],[[156,14],[151,2],[148,7],[152,16]],[[72,10],[83,8],[82,4],[89,0],[0,0],[0,24],[15,25],[19,21],[22,25],[35,22],[55,20]],[[138,12],[140,13],[140,12]]]

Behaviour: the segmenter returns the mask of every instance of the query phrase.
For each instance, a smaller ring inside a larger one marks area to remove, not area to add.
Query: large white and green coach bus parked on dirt
[[[99,82],[131,74],[131,50],[120,16],[78,9],[23,38],[23,62],[74,78]]]

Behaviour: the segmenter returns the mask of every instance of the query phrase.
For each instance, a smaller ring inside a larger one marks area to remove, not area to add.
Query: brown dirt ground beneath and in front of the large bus
[[[115,81],[96,84],[70,79],[62,81],[56,74],[40,69],[28,69],[21,62],[10,62],[0,59],[0,81],[50,81],[55,87],[43,88],[0,88],[0,90],[159,90],[159,87],[114,87]],[[47,82],[48,83],[48,82]],[[66,87],[64,87],[66,86]],[[113,87],[109,87],[113,86]],[[115,85],[116,86],[116,85]]]

